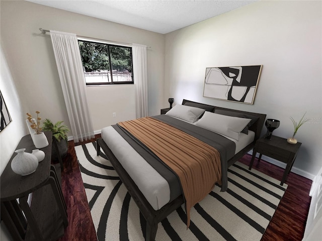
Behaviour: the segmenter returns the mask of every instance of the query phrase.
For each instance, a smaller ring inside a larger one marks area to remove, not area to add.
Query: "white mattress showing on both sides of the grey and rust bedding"
[[[254,137],[255,133],[249,131],[248,135],[240,133],[239,141],[226,138],[236,144],[235,153],[237,153],[252,143]],[[154,210],[162,208],[170,201],[170,187],[166,179],[155,171],[113,127],[103,128],[102,138]]]

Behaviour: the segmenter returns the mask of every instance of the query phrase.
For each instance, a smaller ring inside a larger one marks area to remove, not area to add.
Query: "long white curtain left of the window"
[[[77,37],[52,30],[50,37],[74,142],[94,138]]]

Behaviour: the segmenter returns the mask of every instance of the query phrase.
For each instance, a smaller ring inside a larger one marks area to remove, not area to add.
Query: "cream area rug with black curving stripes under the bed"
[[[75,147],[99,241],[144,240],[145,219],[96,143]],[[228,190],[215,186],[191,209],[184,206],[158,224],[156,240],[260,240],[287,185],[236,162],[228,170]]]

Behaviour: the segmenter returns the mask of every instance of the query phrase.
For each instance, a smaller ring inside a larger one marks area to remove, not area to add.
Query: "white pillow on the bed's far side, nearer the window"
[[[194,123],[195,121],[197,121],[199,116],[203,114],[203,112],[205,112],[205,110],[201,108],[176,104],[166,114],[172,117],[183,119],[184,121],[190,123]]]

